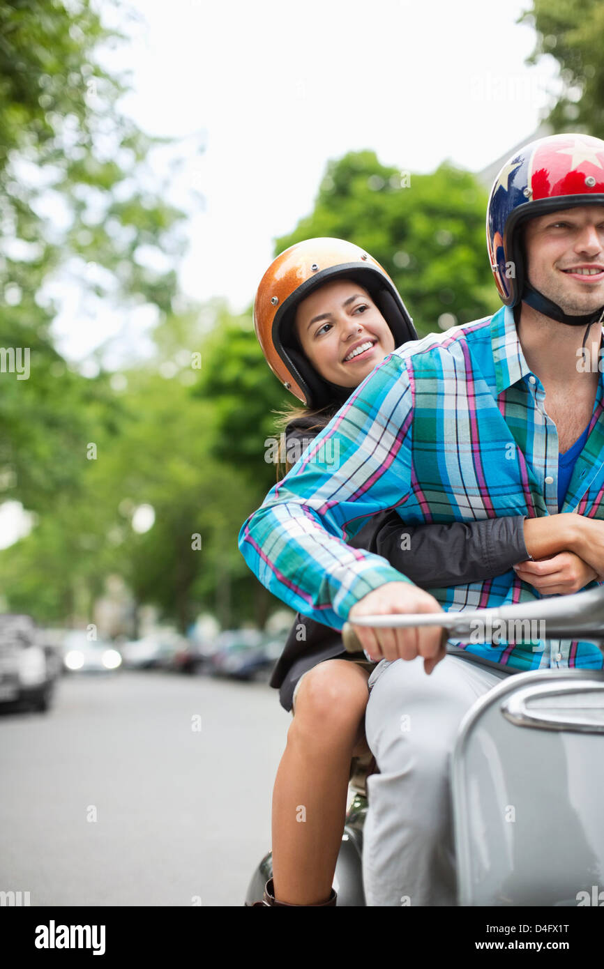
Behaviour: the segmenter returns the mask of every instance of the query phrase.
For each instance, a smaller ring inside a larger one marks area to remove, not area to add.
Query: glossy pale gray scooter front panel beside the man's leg
[[[588,904],[604,889],[604,671],[494,687],[461,723],[452,796],[461,905]]]

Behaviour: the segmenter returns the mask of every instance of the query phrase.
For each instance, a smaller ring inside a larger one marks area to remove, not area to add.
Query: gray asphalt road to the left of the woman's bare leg
[[[63,676],[48,713],[0,712],[0,891],[242,905],[290,719],[264,683],[159,671]]]

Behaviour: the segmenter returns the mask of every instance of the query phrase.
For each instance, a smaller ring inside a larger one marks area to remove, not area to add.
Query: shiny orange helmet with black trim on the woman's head
[[[352,392],[321,377],[302,352],[294,328],[300,301],[337,278],[353,279],[366,289],[391,328],[395,346],[417,339],[397,287],[359,246],[334,238],[305,239],[290,246],[262,277],[254,300],[254,328],[272,372],[307,407],[343,401]]]

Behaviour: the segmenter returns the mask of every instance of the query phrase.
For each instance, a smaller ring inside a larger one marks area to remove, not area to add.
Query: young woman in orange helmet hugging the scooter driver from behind
[[[274,260],[256,294],[254,324],[270,368],[305,403],[281,415],[286,471],[373,368],[417,338],[382,267],[358,246],[330,238],[308,239]],[[326,452],[325,459],[337,455]],[[411,526],[404,511],[402,517],[392,511],[373,516],[348,544],[383,555],[424,588],[518,567],[539,591],[568,593],[597,578],[572,551],[579,517]],[[272,798],[273,877],[257,904],[335,905],[351,760],[368,753],[371,669],[365,654],[344,652],[336,630],[296,617],[270,681],[293,721]]]

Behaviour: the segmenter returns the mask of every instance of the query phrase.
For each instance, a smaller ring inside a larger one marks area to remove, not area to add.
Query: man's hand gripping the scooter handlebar
[[[372,660],[413,660],[416,656],[423,656],[424,669],[430,673],[446,655],[446,637],[443,637],[441,626],[386,629],[356,626],[355,618],[362,615],[388,615],[393,612],[442,611],[434,597],[417,585],[410,585],[409,582],[386,582],[355,603],[348,614],[348,622],[353,624],[354,632]]]

